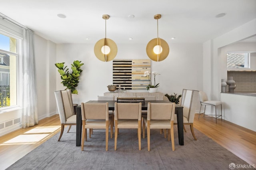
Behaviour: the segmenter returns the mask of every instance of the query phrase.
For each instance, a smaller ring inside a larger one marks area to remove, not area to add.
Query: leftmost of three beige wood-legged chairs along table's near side
[[[108,115],[108,103],[81,103],[82,114],[82,146],[87,141],[87,128],[106,129],[106,151],[108,150],[108,130],[110,126],[110,137],[113,134],[112,119]]]

